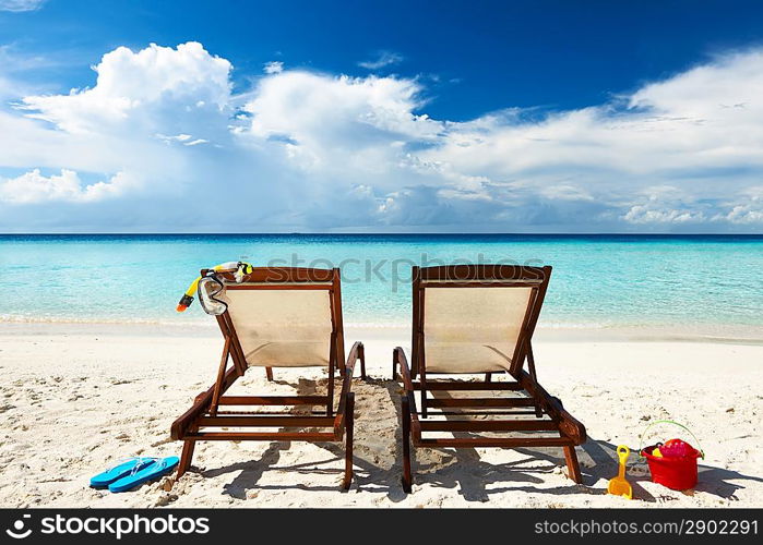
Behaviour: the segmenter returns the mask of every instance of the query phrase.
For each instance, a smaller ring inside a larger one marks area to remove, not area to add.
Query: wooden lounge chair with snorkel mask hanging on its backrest
[[[202,277],[206,274],[206,269],[201,271]],[[172,439],[184,441],[178,479],[190,468],[199,440],[341,443],[346,431],[343,487],[349,488],[355,407],[351,379],[358,360],[361,376],[366,378],[366,362],[363,346],[356,342],[345,363],[339,269],[267,267],[254,268],[240,283],[233,274],[219,274],[218,278],[225,290],[216,299],[227,304],[227,310],[217,316],[224,338],[223,355],[214,386],[200,393],[193,405],[172,424]],[[230,367],[228,360],[233,362]],[[225,396],[249,367],[265,367],[272,380],[273,367],[307,366],[327,367],[325,396]],[[343,380],[335,408],[336,370]],[[282,410],[241,410],[257,405],[276,405]],[[308,414],[283,412],[288,405],[311,408],[311,411]],[[320,411],[313,410],[317,405],[321,407]],[[291,429],[247,431],[252,427]],[[300,427],[310,431],[293,429]],[[245,431],[233,431],[236,428]]]

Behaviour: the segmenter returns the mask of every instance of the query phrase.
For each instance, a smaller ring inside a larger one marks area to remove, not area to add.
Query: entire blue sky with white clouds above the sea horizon
[[[0,0],[0,232],[763,232],[763,3]]]

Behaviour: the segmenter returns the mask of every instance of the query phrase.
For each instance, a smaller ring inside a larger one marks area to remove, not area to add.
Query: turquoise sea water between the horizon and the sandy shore
[[[544,325],[763,326],[763,235],[0,235],[0,320],[210,320],[175,306],[227,261],[342,266],[345,322],[409,322],[410,265],[553,275]]]

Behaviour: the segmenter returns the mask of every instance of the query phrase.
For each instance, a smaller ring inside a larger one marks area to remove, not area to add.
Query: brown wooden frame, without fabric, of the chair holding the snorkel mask
[[[208,272],[202,269],[202,277]],[[220,274],[226,281],[234,282],[230,274]],[[254,283],[247,283],[254,282]],[[312,269],[293,267],[255,268],[243,278],[243,283],[229,283],[227,290],[329,290],[331,298],[331,343],[329,354],[329,385],[325,396],[225,396],[226,390],[248,368],[243,350],[239,342],[230,315],[227,310],[217,316],[217,324],[224,338],[217,379],[206,391],[196,396],[193,405],[178,417],[171,426],[170,435],[175,440],[183,441],[182,455],[177,477],[191,467],[191,459],[199,440],[289,440],[289,441],[335,441],[341,443],[346,431],[345,473],[342,486],[348,489],[353,480],[353,428],[355,422],[355,395],[351,380],[355,365],[360,361],[360,376],[366,378],[366,354],[363,344],[356,342],[347,360],[344,354],[344,329],[342,323],[342,290],[339,269]],[[228,367],[228,360],[233,365]],[[334,372],[338,368],[343,377],[338,395],[338,407],[334,414]],[[271,367],[265,367],[269,380],[273,380]],[[283,412],[263,411],[222,411],[220,405],[234,409],[240,407],[315,407],[321,411],[311,411],[309,415],[288,415]],[[310,427],[326,428],[319,432],[227,432],[208,431],[215,427]]]

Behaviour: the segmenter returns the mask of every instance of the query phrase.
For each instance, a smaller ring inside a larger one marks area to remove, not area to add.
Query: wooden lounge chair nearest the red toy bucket
[[[581,482],[575,445],[585,443],[585,427],[538,385],[530,344],[550,275],[551,267],[414,267],[413,367],[398,347],[392,370],[404,387],[406,492],[413,482],[412,441],[414,447],[563,447],[569,476]],[[493,380],[497,373],[510,380]],[[480,379],[454,380],[456,374]],[[475,415],[479,420],[469,417]]]

